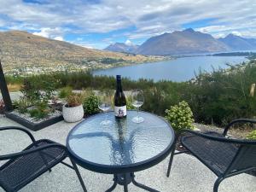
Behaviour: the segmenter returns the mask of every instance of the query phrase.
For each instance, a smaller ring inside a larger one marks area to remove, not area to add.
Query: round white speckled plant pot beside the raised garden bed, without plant
[[[77,122],[84,117],[83,105],[79,105],[73,108],[67,108],[66,105],[63,105],[62,115],[64,120],[68,123]]]

